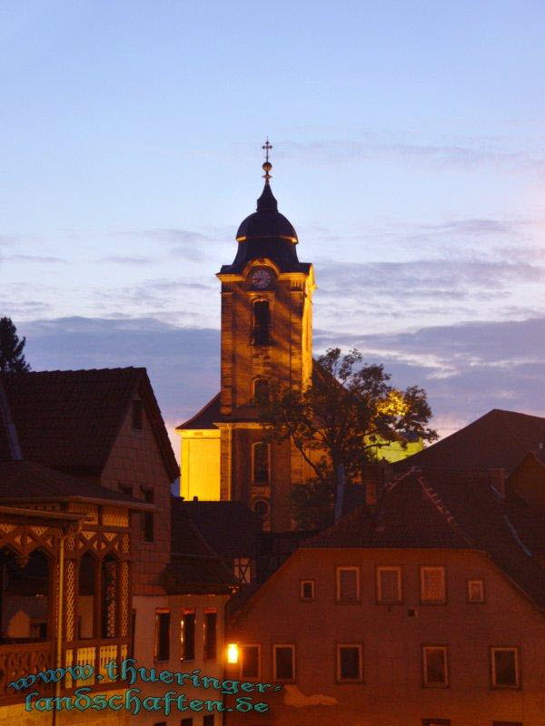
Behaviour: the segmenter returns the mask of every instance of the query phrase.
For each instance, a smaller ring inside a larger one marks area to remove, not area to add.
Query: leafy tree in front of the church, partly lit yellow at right
[[[292,489],[292,514],[304,528],[312,516],[320,526],[331,512],[341,467],[347,483],[357,481],[382,446],[437,438],[427,426],[431,408],[423,388],[391,387],[381,365],[362,365],[359,350],[342,356],[329,348],[314,366],[312,387],[272,383],[268,399],[258,401],[269,440],[291,440],[315,475]]]

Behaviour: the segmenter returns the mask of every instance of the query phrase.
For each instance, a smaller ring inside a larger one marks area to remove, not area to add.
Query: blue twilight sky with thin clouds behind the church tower
[[[219,283],[272,189],[315,350],[428,390],[441,434],[545,415],[545,5],[0,4],[0,315],[33,368],[219,386]]]

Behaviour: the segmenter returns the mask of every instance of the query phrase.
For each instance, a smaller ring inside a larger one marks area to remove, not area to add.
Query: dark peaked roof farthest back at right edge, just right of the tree
[[[461,471],[504,468],[508,474],[531,449],[545,442],[545,418],[494,408],[436,444],[394,464]]]

